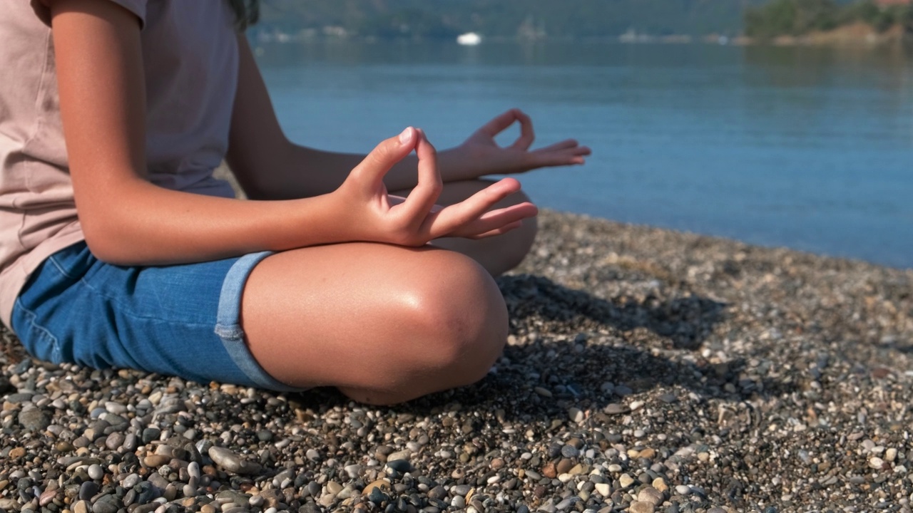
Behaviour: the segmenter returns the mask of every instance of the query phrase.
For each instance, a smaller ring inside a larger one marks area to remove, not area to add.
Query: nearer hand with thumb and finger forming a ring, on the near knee
[[[387,193],[384,175],[415,150],[418,184],[404,200]],[[529,202],[491,210],[519,191],[519,182],[505,178],[458,204],[436,204],[443,183],[436,151],[421,130],[409,127],[377,145],[331,195],[344,238],[399,246],[423,246],[438,237],[482,238],[517,228],[537,214]]]

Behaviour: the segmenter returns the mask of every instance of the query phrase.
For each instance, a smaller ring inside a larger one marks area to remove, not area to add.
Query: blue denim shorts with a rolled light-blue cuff
[[[240,325],[247,277],[268,255],[120,267],[80,242],[32,275],[13,307],[13,330],[40,360],[300,391],[260,367]]]

